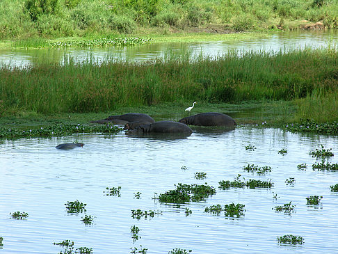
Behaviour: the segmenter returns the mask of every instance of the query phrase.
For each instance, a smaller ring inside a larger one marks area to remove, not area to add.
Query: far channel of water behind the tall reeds
[[[77,62],[95,61],[102,63],[107,59],[116,61],[152,61],[166,59],[168,52],[186,52],[187,49],[198,56],[220,56],[227,51],[280,51],[304,47],[328,47],[336,45],[338,32],[334,31],[290,31],[276,33],[259,40],[239,42],[189,42],[154,43],[135,47],[104,47],[95,49],[0,49],[0,63],[8,66],[26,67],[37,63],[63,63],[69,58]]]

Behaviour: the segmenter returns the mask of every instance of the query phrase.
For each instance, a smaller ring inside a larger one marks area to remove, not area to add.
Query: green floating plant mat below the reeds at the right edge
[[[337,134],[338,122],[301,122],[287,125],[286,128],[289,132],[316,132],[318,134]]]

